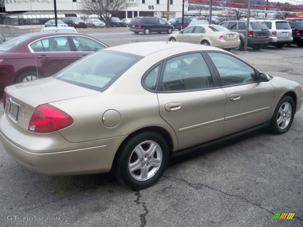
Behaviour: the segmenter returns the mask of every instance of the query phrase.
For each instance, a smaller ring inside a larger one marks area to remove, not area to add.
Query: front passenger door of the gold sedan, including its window
[[[245,130],[269,118],[274,88],[270,82],[260,82],[258,72],[230,54],[209,52],[227,101],[223,135]]]

